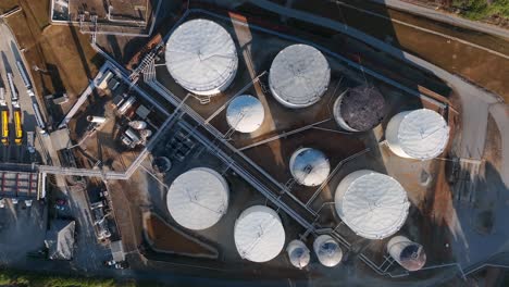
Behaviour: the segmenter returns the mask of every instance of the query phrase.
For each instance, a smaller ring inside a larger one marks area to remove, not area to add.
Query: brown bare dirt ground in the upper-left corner
[[[32,67],[38,96],[66,91],[75,99],[88,85],[103,59],[78,28],[49,25],[49,1],[21,1],[21,12],[4,21],[13,30]],[[34,71],[35,66],[39,72]]]

